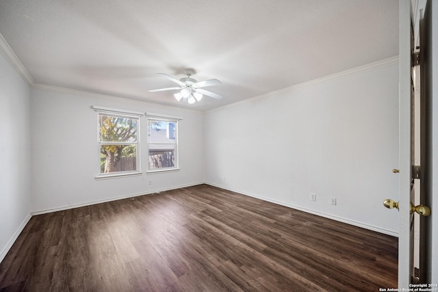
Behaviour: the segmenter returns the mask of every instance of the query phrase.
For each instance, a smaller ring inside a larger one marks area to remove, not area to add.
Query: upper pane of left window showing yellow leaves
[[[101,142],[137,142],[138,119],[99,114]]]

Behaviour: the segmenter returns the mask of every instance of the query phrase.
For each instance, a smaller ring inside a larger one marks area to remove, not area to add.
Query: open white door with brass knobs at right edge
[[[399,202],[394,204],[400,210],[400,233],[398,243],[398,288],[409,288],[409,284],[428,282],[426,279],[426,228],[424,217],[430,209],[424,207],[424,145],[426,135],[426,111],[419,60],[422,59],[420,29],[422,10],[426,1],[399,1]],[[418,5],[420,4],[420,5]],[[422,7],[421,7],[422,6]],[[422,31],[422,32],[423,32]],[[417,51],[420,50],[419,57]],[[421,81],[421,83],[420,83]],[[421,84],[421,86],[420,86]],[[420,88],[419,88],[420,87]],[[419,163],[420,162],[420,163]],[[421,165],[421,166],[420,166]]]

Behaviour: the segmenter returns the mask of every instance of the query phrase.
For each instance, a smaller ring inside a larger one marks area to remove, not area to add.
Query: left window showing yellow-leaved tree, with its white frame
[[[139,174],[142,113],[93,108],[98,113],[98,177]]]

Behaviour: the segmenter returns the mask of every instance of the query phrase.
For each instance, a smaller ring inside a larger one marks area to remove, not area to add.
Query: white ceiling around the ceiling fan
[[[398,55],[398,0],[0,0],[35,83],[201,111]],[[159,77],[222,100],[178,103]]]

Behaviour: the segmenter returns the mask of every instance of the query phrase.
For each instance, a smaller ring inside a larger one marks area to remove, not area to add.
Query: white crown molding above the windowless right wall
[[[242,105],[244,103],[250,103],[251,101],[255,101],[255,100],[259,99],[259,98],[267,98],[269,96],[273,96],[273,95],[279,94],[281,92],[292,92],[292,91],[298,90],[300,88],[305,88],[305,87],[308,87],[308,86],[311,86],[311,85],[315,85],[316,83],[320,83],[320,82],[331,80],[331,79],[336,79],[336,78],[339,78],[339,77],[342,77],[342,76],[345,76],[345,75],[350,75],[350,74],[353,74],[355,72],[361,72],[361,71],[365,71],[365,70],[370,70],[370,69],[376,68],[376,67],[391,66],[391,65],[394,65],[394,64],[398,64],[398,56],[390,57],[388,59],[383,59],[381,61],[377,61],[377,62],[373,62],[373,63],[367,64],[367,65],[363,65],[363,66],[359,66],[359,67],[356,67],[356,68],[348,69],[348,70],[345,70],[345,71],[342,71],[342,72],[337,72],[335,74],[324,76],[324,77],[321,77],[321,78],[318,78],[318,79],[313,79],[311,81],[306,81],[306,82],[303,82],[303,83],[300,83],[300,84],[292,85],[292,86],[289,86],[287,88],[282,88],[281,90],[275,90],[275,91],[272,91],[272,92],[268,92],[266,94],[261,94],[261,95],[258,95],[258,96],[254,96],[252,98],[247,98],[247,99],[244,99],[243,101],[237,101],[236,103],[230,103],[229,105],[224,105],[223,107],[216,107],[216,109],[210,109],[209,111],[205,111],[205,112],[209,113],[209,112],[218,111],[220,109],[224,109],[224,108],[227,108],[227,107],[234,107],[236,105]]]

